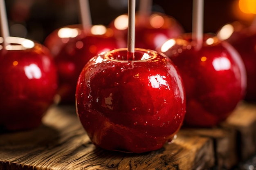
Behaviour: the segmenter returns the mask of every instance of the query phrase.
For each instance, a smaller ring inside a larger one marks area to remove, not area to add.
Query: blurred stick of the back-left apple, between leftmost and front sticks
[[[83,29],[89,28],[92,26],[92,18],[90,11],[89,0],[79,0],[80,7],[80,18]]]

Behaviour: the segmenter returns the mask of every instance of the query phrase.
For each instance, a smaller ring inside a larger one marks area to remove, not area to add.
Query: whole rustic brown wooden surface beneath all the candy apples
[[[255,153],[253,104],[241,104],[218,127],[182,128],[172,144],[143,154],[95,147],[74,106],[52,106],[34,130],[0,134],[0,170],[230,169]]]

